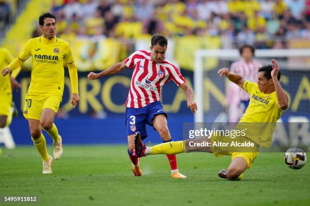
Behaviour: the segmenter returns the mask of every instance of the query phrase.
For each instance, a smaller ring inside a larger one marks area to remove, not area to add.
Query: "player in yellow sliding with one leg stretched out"
[[[272,63],[273,65],[264,66],[258,70],[257,83],[246,81],[239,74],[229,72],[227,68],[222,68],[218,71],[220,76],[226,76],[230,81],[236,83],[251,96],[249,107],[240,122],[237,124],[237,127],[238,125],[246,123],[256,123],[255,125],[270,123],[269,125],[271,125],[270,129],[272,134],[275,129],[275,124],[271,123],[276,123],[281,117],[283,111],[288,108],[288,96],[279,83],[281,73],[278,63],[275,60],[272,60]],[[257,128],[254,130],[257,130]],[[266,130],[266,128],[263,130]],[[270,137],[270,130],[268,131],[268,136]],[[143,157],[146,155],[163,153],[176,154],[191,151],[213,152],[216,157],[228,155],[231,156],[231,163],[228,170],[222,170],[219,172],[219,176],[228,180],[239,180],[243,177],[243,172],[252,167],[252,163],[258,155],[257,151],[259,145],[267,147],[270,145],[272,139],[262,138],[264,136],[248,134],[251,133],[247,133],[246,138],[253,142],[255,151],[220,153],[216,152],[212,146],[199,146],[198,144],[195,146],[195,143],[211,142],[212,137],[211,139],[208,137],[201,137],[194,140],[168,142],[152,147],[146,147],[141,141],[140,134],[137,133],[135,136],[134,155],[137,157]]]

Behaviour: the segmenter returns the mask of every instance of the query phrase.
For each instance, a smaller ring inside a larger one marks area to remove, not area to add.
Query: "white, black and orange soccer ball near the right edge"
[[[301,149],[294,147],[285,152],[284,161],[289,168],[299,170],[307,162],[307,156]]]

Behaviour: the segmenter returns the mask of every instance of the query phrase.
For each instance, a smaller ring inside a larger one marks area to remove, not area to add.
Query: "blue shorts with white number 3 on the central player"
[[[152,102],[143,108],[126,108],[127,136],[140,132],[141,138],[145,139],[147,137],[146,124],[153,126],[152,121],[159,114],[164,114],[167,118],[167,113],[160,101]]]

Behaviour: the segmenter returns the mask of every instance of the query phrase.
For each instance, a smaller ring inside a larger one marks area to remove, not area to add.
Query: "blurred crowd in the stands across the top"
[[[310,39],[310,0],[63,0],[51,12],[64,39],[130,40],[160,32],[220,36],[222,48],[286,48],[291,39]]]

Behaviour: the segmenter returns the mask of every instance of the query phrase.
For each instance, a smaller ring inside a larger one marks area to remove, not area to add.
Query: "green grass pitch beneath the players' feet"
[[[242,181],[227,181],[217,173],[230,158],[209,153],[178,155],[187,178],[173,179],[164,155],[143,158],[143,176],[134,177],[125,145],[64,145],[51,175],[42,174],[33,146],[3,148],[0,205],[310,205],[310,164],[292,170],[283,156],[259,153]],[[37,202],[6,203],[4,196],[36,196]]]

